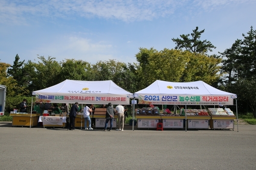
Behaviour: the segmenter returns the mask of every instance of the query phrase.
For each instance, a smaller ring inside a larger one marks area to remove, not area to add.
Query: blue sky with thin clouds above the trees
[[[0,62],[37,55],[137,62],[139,48],[175,48],[205,29],[218,54],[256,29],[256,0],[0,0]]]

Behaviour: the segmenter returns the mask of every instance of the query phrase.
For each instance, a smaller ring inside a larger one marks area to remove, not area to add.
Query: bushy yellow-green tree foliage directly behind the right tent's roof
[[[148,52],[145,49],[143,49],[143,51]],[[148,82],[150,82],[149,85],[157,79],[170,82],[202,80],[211,85],[220,77],[217,73],[221,68],[218,66],[221,59],[213,56],[176,49],[169,50],[167,48],[149,54],[150,55],[146,57],[146,62],[140,58],[143,63],[139,63],[138,68],[140,69],[137,70],[139,76],[143,77],[147,74],[147,77],[144,77],[144,79],[148,79]],[[138,57],[143,55],[146,56],[145,54],[137,54]],[[147,70],[147,72],[142,74],[143,70]],[[143,80],[141,80],[141,82],[142,81]],[[147,86],[148,85],[144,84],[142,88]]]

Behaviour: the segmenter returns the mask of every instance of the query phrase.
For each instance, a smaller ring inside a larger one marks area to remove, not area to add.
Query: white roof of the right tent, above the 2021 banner
[[[186,94],[186,95],[233,95],[225,91],[218,90],[203,81],[196,82],[166,82],[156,80],[147,88],[137,91],[134,96],[139,94]]]

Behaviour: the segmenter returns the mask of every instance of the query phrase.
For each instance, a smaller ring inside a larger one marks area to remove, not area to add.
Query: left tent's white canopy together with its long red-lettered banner
[[[111,80],[79,81],[69,80],[33,91],[36,102],[108,104],[114,105],[130,103],[133,94],[120,88]]]

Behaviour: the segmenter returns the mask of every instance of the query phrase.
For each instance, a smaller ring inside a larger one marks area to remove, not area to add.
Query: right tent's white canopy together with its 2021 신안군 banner
[[[233,105],[233,99],[237,98],[236,94],[218,90],[203,81],[162,80],[135,92],[134,97],[139,98],[139,104],[153,105]]]

